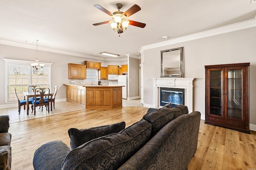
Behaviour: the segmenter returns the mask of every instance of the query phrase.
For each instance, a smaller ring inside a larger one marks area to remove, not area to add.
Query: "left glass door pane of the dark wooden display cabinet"
[[[210,114],[222,116],[222,70],[210,70]]]

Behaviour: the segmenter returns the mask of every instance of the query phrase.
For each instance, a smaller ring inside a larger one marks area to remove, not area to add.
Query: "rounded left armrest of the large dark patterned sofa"
[[[61,170],[62,163],[70,151],[62,141],[45,143],[34,153],[34,170]]]

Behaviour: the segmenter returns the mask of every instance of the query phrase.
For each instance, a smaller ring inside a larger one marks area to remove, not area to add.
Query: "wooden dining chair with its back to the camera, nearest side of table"
[[[39,94],[40,94],[40,99],[38,100],[36,97],[37,97],[37,93],[36,91],[39,91]],[[37,106],[46,106],[46,110],[47,110],[47,107],[48,107],[48,113],[50,111],[49,109],[49,93],[50,93],[50,88],[36,88],[35,89],[35,96],[34,96],[34,100],[32,101],[32,112],[33,113],[33,110],[34,110],[34,115],[36,115],[36,107]],[[47,92],[47,93],[46,93]],[[44,96],[47,96],[47,98],[44,98]],[[42,111],[43,111],[43,107],[42,107]]]

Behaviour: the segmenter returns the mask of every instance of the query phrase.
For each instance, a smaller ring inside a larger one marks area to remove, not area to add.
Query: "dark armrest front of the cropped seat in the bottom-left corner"
[[[1,146],[0,147],[0,170],[11,169],[12,157],[11,147]]]

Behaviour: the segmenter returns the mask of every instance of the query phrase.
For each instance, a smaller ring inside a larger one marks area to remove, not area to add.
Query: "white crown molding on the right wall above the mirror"
[[[195,39],[210,37],[210,36],[213,36],[213,35],[219,35],[219,34],[223,34],[223,33],[229,33],[229,32],[232,32],[232,31],[238,31],[238,30],[241,30],[241,29],[246,29],[246,28],[251,28],[251,27],[256,27],[256,19],[242,21],[242,22],[239,22],[239,23],[226,25],[226,26],[223,26],[223,27],[215,28],[215,29],[210,29],[210,30],[207,30],[207,31],[202,31],[202,32],[199,32],[199,33],[194,33],[194,34],[186,35],[186,36],[183,36],[183,37],[178,37],[178,38],[162,41],[160,43],[145,45],[145,46],[140,47],[139,52],[142,53],[144,50],[147,50],[147,49],[154,49],[154,48],[157,48],[157,47],[163,47],[163,46],[166,46],[166,45],[182,43],[182,42],[186,42],[186,41],[191,41],[191,40],[195,40]]]

